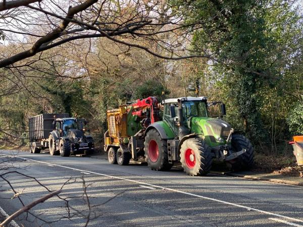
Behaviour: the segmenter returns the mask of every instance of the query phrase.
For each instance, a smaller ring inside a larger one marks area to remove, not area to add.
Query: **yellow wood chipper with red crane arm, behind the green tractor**
[[[144,159],[144,131],[160,120],[156,97],[138,99],[117,109],[107,111],[108,131],[105,133],[105,151],[112,164],[126,165],[130,159]]]

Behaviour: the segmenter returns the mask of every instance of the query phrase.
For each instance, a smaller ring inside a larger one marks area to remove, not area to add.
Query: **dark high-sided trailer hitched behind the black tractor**
[[[68,113],[44,113],[28,119],[30,153],[40,153],[48,148],[48,136],[54,130],[57,118],[68,118]]]

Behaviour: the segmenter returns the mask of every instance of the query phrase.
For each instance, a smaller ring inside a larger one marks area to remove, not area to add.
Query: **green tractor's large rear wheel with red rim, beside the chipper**
[[[162,139],[156,129],[147,132],[144,152],[148,167],[156,171],[168,171],[173,166],[168,162],[167,140]]]

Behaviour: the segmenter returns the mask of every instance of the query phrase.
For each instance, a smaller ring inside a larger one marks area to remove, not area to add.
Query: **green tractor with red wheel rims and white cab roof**
[[[216,102],[217,104],[218,102]],[[144,132],[144,153],[148,166],[169,170],[179,161],[191,176],[206,175],[212,163],[225,162],[233,170],[251,167],[254,149],[243,135],[220,118],[210,118],[206,97],[163,100],[163,121],[150,124]],[[226,114],[221,106],[221,116]]]

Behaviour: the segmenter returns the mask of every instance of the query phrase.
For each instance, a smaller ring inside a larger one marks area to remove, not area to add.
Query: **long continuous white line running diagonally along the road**
[[[31,160],[31,161],[36,161],[36,162],[44,163],[44,164],[51,164],[51,163],[48,163],[48,162],[45,162],[45,161],[37,161],[37,160],[34,160],[34,159],[24,158],[24,157],[19,157],[19,156],[13,156],[13,155],[9,155],[9,154],[0,154],[0,155],[9,156],[9,157],[15,157],[15,158],[18,157],[18,158],[22,158],[24,160]],[[53,165],[56,165],[56,166],[59,166],[59,167],[63,167],[63,168],[73,169],[75,171],[80,171],[80,172],[83,171],[83,169],[79,169],[79,168],[72,168],[72,167],[68,167],[68,166],[64,166],[64,165],[57,165],[57,164],[53,164]],[[220,200],[220,199],[214,199],[214,198],[210,198],[210,197],[206,197],[206,196],[200,196],[200,195],[196,195],[196,194],[189,193],[189,192],[183,192],[183,191],[172,189],[172,188],[166,188],[166,187],[162,187],[162,186],[158,186],[158,185],[152,185],[152,184],[148,184],[148,183],[144,183],[144,182],[140,182],[140,181],[130,180],[130,179],[127,179],[127,178],[120,178],[120,177],[111,176],[111,175],[107,175],[107,174],[99,174],[99,173],[92,172],[92,171],[86,171],[86,172],[90,173],[90,174],[95,174],[95,175],[100,175],[100,176],[108,177],[108,178],[119,179],[119,180],[128,181],[128,182],[133,182],[133,183],[140,184],[140,185],[146,185],[146,186],[150,186],[150,187],[160,188],[160,189],[168,190],[168,191],[171,191],[171,192],[177,192],[177,193],[181,193],[181,194],[184,194],[184,195],[189,195],[189,196],[193,196],[193,197],[197,197],[197,198],[201,198],[201,199],[206,199],[206,200],[210,200],[210,201],[214,201],[214,202],[219,202],[219,203],[223,203],[223,204],[227,204],[227,205],[231,205],[231,206],[235,206],[235,207],[239,207],[239,208],[244,208],[246,210],[257,211],[259,213],[264,213],[264,214],[268,214],[268,215],[272,215],[272,216],[276,216],[276,217],[280,217],[280,218],[285,218],[285,219],[289,219],[289,220],[293,220],[293,221],[297,221],[297,222],[302,222],[303,223],[303,220],[298,219],[298,218],[288,217],[288,216],[284,216],[284,215],[281,215],[281,214],[268,212],[268,211],[265,211],[265,210],[259,210],[259,209],[256,209],[256,208],[252,208],[252,207],[248,207],[248,206],[243,206],[243,205],[239,205],[239,204],[236,204],[236,203],[226,202],[226,201],[223,201],[223,200]]]

